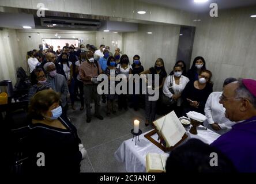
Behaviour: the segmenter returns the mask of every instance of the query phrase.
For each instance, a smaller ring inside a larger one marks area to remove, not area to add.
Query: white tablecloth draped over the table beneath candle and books
[[[202,140],[204,143],[207,144],[212,143],[220,136],[219,134],[211,131],[210,129],[207,129],[206,131],[197,130],[197,135],[192,135],[188,131],[189,129],[187,129],[188,138],[186,140],[196,138]],[[116,160],[118,160],[118,162],[125,162],[126,171],[129,173],[146,172],[146,155],[148,153],[169,155],[168,153],[165,153],[160,148],[158,148],[155,144],[151,143],[148,139],[146,139],[146,137],[144,137],[144,135],[148,132],[140,135],[140,141],[138,141],[137,139],[137,145],[135,145],[134,137],[133,141],[131,141],[132,138],[123,141],[118,150],[116,150],[115,152]],[[158,136],[157,134],[155,134],[152,137],[153,139],[157,140]]]

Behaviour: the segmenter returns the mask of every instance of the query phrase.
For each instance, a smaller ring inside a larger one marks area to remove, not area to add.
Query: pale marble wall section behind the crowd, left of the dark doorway
[[[124,34],[124,51],[133,62],[139,55],[145,70],[155,65],[156,59],[164,60],[167,73],[172,71],[176,61],[180,26],[175,25],[138,25],[138,32]],[[152,34],[148,34],[152,32]]]

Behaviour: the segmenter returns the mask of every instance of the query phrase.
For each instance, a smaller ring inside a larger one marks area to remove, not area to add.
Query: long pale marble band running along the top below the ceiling
[[[49,11],[107,16],[120,19],[118,21],[141,20],[194,26],[193,20],[197,18],[196,13],[137,0],[1,0],[0,6],[39,9],[38,3],[43,3]],[[146,14],[138,14],[139,10],[145,10]]]

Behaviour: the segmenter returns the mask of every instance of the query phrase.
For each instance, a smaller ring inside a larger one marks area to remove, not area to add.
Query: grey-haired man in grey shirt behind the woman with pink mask
[[[46,71],[47,82],[51,83],[52,90],[61,94],[61,106],[63,113],[66,114],[69,87],[67,86],[67,80],[65,76],[57,74],[55,64],[52,62],[44,64],[44,71]]]

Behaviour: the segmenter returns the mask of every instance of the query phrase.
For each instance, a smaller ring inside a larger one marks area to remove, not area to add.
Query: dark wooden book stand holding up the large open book
[[[160,143],[152,138],[152,136],[155,135],[156,133],[159,136],[158,140],[160,139]],[[177,147],[180,143],[182,143],[187,138],[187,135],[185,133],[183,135],[182,139],[177,144],[175,144],[172,147],[166,147],[166,144],[165,144],[165,141],[163,139],[163,136],[161,136],[161,134],[159,133],[159,131],[157,131],[156,128],[153,129],[153,131],[151,131],[151,132],[147,133],[146,135],[144,135],[144,137],[146,137],[146,139],[148,139],[150,142],[155,144],[157,147],[159,147],[164,152],[169,152],[169,151],[172,151],[175,147]]]

